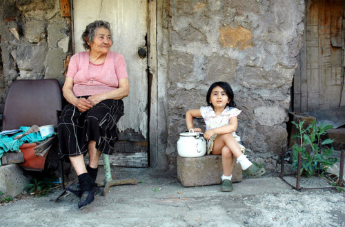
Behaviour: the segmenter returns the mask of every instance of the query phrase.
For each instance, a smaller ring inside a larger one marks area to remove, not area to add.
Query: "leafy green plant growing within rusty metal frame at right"
[[[321,136],[326,134],[326,130],[333,128],[331,125],[319,124],[313,121],[307,128],[304,128],[304,121],[299,123],[292,122],[299,130],[299,135],[294,135],[293,138],[298,137],[300,142],[293,146],[293,168],[297,168],[298,153],[301,153],[301,175],[311,177],[315,175],[317,170],[321,170],[323,175],[329,166],[333,166],[337,162],[337,158],[331,157],[333,155],[333,147],[327,148],[326,145],[332,144],[333,139],[325,139],[321,141]],[[319,163],[319,167],[317,166]]]

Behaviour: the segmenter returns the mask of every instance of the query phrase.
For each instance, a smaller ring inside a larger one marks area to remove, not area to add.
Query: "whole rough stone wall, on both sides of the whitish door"
[[[60,1],[0,3],[0,104],[16,79],[57,78],[62,84],[71,34]],[[243,110],[237,132],[249,157],[275,168],[287,141],[304,1],[158,0],[157,15],[159,168],[176,170],[184,115],[206,106],[215,81],[233,87]]]

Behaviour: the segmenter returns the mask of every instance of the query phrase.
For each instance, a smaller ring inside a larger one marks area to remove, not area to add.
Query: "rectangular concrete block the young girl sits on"
[[[185,187],[221,184],[223,166],[221,155],[185,158],[177,155],[177,176]],[[239,164],[233,168],[233,183],[242,181],[242,168]]]

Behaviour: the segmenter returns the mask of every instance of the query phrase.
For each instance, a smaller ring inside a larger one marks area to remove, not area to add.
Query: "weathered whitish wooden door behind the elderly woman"
[[[112,29],[112,51],[126,59],[130,95],[124,99],[125,115],[119,121],[115,166],[148,166],[148,1],[73,0],[75,52],[83,51],[81,34],[88,23],[104,20]],[[139,51],[140,50],[140,51]],[[139,55],[139,52],[141,55]]]

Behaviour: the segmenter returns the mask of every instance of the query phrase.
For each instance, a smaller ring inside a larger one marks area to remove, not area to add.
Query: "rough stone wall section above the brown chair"
[[[70,26],[59,0],[0,0],[0,104],[16,79],[64,81]]]

